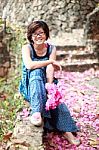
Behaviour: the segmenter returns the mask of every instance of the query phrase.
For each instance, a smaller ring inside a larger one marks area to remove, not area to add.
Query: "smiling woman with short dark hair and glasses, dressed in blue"
[[[56,61],[56,47],[48,44],[49,28],[44,21],[34,21],[27,28],[28,44],[22,47],[23,69],[20,93],[31,105],[30,121],[48,130],[58,130],[71,143],[79,145],[80,141],[72,134],[78,128],[65,104],[46,111],[47,93],[45,83],[53,83],[54,71],[61,69]],[[42,119],[43,118],[43,119]]]

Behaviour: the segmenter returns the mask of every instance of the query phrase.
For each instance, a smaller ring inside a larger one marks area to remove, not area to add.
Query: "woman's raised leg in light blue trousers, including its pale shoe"
[[[42,124],[41,113],[43,110],[43,95],[42,95],[42,81],[38,79],[31,80],[29,83],[31,117],[30,121],[35,126]]]

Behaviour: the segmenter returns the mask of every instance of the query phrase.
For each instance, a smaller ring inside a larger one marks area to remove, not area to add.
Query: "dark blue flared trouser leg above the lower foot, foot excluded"
[[[56,109],[50,110],[50,113],[51,118],[45,119],[45,127],[49,130],[52,128],[62,132],[77,132],[79,130],[64,103]]]

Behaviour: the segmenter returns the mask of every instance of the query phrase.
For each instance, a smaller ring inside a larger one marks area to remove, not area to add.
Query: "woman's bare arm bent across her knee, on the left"
[[[36,69],[54,63],[54,60],[32,61],[30,56],[30,48],[27,45],[22,47],[22,58],[27,69]]]

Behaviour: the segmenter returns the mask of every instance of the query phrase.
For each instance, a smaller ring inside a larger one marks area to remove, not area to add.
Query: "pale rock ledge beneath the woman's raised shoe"
[[[35,127],[31,124],[29,117],[16,122],[11,143],[8,144],[12,150],[17,145],[19,150],[44,150],[43,148],[43,126]]]

